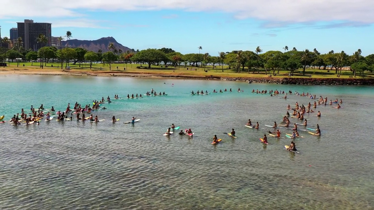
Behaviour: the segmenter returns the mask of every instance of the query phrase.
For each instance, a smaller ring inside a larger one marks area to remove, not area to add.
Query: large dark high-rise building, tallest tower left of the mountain
[[[33,20],[25,20],[24,22],[17,22],[18,37],[22,38],[25,50],[37,51],[42,46],[51,46],[52,24],[38,23]],[[39,34],[43,34],[48,39],[47,43],[38,43],[37,38]]]

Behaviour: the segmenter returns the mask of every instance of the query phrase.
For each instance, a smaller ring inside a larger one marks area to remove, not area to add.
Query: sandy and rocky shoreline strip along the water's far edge
[[[145,78],[175,78],[200,80],[226,80],[226,81],[252,81],[254,83],[272,84],[302,84],[302,85],[374,85],[374,78],[301,78],[301,77],[220,77],[213,75],[183,75],[183,74],[157,74],[148,72],[117,72],[117,71],[34,71],[26,69],[3,70],[0,75],[68,75],[68,76],[101,76],[101,77],[145,77]]]

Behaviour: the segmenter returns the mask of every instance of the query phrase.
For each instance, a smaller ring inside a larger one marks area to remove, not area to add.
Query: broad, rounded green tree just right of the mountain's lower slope
[[[156,49],[141,50],[132,56],[131,60],[135,62],[145,62],[148,64],[148,68],[151,68],[152,64],[165,61],[166,54]]]

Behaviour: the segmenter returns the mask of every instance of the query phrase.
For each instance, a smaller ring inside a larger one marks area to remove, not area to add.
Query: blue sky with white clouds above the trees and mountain
[[[13,0],[0,13],[1,36],[16,22],[52,23],[52,36],[114,37],[142,50],[209,53],[316,48],[374,53],[372,0]]]

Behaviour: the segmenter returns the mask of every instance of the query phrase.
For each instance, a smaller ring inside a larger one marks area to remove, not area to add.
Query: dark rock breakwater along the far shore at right
[[[292,78],[292,77],[221,77],[221,80],[252,81],[272,84],[304,85],[374,85],[372,78]]]

